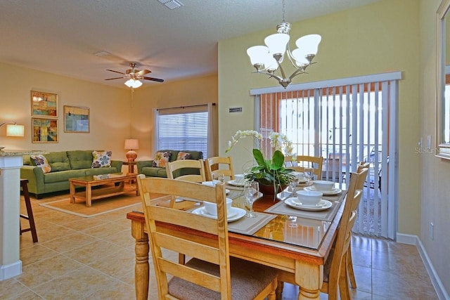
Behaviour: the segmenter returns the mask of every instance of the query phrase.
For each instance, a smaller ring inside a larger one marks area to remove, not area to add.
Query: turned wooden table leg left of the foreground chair
[[[136,263],[134,265],[134,287],[136,289],[136,300],[147,300],[149,278],[148,234],[144,231],[146,223],[131,220],[131,235],[136,240],[134,252]]]

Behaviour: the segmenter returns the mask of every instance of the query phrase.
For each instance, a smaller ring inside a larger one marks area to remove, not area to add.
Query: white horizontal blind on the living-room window
[[[158,149],[202,151],[207,157],[208,112],[158,110]]]

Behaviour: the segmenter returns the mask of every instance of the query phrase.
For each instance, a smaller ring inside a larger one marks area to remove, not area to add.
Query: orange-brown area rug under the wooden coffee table
[[[141,203],[141,197],[132,194],[93,200],[91,207],[86,207],[86,202],[80,200],[77,200],[75,203],[70,203],[70,198],[41,203],[39,205],[41,207],[63,211],[67,214],[75,214],[75,216],[89,218],[106,214],[111,211],[132,207],[139,203]]]

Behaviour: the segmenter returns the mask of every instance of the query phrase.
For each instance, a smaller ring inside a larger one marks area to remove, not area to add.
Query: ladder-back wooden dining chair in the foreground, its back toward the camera
[[[230,257],[224,184],[215,187],[167,178],[137,176],[150,239],[158,299],[275,300],[278,270]],[[152,195],[177,195],[217,204],[217,219],[155,205]],[[164,224],[164,225],[162,225]],[[167,226],[179,228],[168,230]],[[183,234],[182,228],[198,231]],[[202,237],[208,242],[202,242]],[[210,240],[210,238],[212,240]],[[191,257],[170,259],[171,250]],[[168,278],[172,277],[170,280]]]

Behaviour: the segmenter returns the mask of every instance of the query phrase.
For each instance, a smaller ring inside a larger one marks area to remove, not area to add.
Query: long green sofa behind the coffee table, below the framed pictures
[[[28,179],[28,190],[37,199],[46,193],[69,190],[69,178],[120,173],[122,162],[111,160],[110,167],[92,168],[93,150],[72,150],[49,152],[44,154],[51,171],[44,174],[40,167],[36,167],[30,155],[23,156],[23,167],[20,168],[20,178]]]

